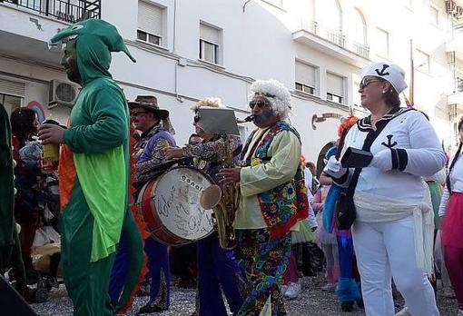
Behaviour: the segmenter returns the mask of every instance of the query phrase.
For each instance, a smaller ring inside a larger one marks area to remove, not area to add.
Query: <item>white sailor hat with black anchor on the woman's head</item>
[[[361,77],[375,76],[389,82],[398,94],[407,88],[405,72],[397,64],[379,62],[369,64],[361,71]]]

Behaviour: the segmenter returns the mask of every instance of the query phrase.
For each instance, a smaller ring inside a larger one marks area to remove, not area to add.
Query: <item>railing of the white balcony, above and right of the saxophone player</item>
[[[354,54],[369,58],[369,46],[351,41],[341,31],[325,27],[318,21],[301,20],[300,27],[301,29],[308,31],[311,34],[320,36],[330,43],[336,44]]]

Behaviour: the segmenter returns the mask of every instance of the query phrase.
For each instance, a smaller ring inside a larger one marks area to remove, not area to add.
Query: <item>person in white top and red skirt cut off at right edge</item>
[[[458,300],[458,316],[463,316],[463,118],[458,123],[459,146],[448,168],[447,187],[438,215],[442,222],[444,259]]]

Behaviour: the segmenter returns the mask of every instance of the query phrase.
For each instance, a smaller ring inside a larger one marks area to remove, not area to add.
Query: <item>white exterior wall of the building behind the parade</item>
[[[388,5],[369,0],[340,0],[341,28],[350,40],[355,33],[354,9],[359,9],[366,21],[369,59],[334,47],[324,39],[318,44],[295,40],[301,21],[324,18],[320,5],[331,0],[285,0],[282,7],[269,1],[254,0],[243,10],[243,1],[230,0],[146,0],[164,8],[163,44],[156,46],[136,40],[137,0],[103,0],[102,18],[116,25],[126,44],[137,59],[133,64],[124,54],[113,54],[111,73],[121,84],[128,99],[137,94],[153,94],[159,104],[171,112],[178,143],[187,141],[192,128],[190,106],[198,99],[218,96],[239,118],[247,116],[251,82],[275,78],[293,94],[291,122],[302,137],[302,153],[316,162],[321,148],[337,138],[337,119],[315,123],[312,117],[322,114],[348,114],[348,106],[326,100],[326,73],[345,77],[346,104],[353,104],[360,82],[360,69],[369,61],[384,60],[374,51],[375,29],[389,32],[389,61],[401,65],[410,76],[410,39],[414,48],[430,55],[430,72],[415,64],[415,104],[430,116],[438,136],[448,145],[453,135],[448,119],[448,94],[453,86],[453,74],[448,65],[446,43],[452,38],[452,25],[445,13],[444,1],[433,1],[438,7],[439,23],[429,21],[429,0],[391,0]],[[332,0],[334,1],[334,0]],[[393,16],[393,18],[390,18]],[[40,28],[31,21],[37,20]],[[333,16],[333,18],[336,18]],[[199,60],[200,22],[222,30],[220,64]],[[20,26],[19,26],[20,25]],[[59,53],[48,52],[46,41],[66,23],[15,5],[0,4],[0,40],[13,38],[15,45],[0,47],[0,76],[26,82],[24,104],[37,101],[45,115],[53,115],[64,123],[69,108],[58,106],[48,110],[47,83],[66,81],[59,65]],[[13,36],[13,37],[12,37]],[[319,36],[320,37],[320,36]],[[310,42],[310,41],[309,41]],[[312,41],[313,42],[313,41]],[[19,48],[15,48],[19,47]],[[38,53],[37,53],[38,52]],[[327,52],[329,54],[327,54]],[[350,55],[348,57],[342,57]],[[340,57],[341,56],[341,57]],[[294,91],[295,61],[319,67],[318,93],[315,96]],[[408,91],[406,91],[408,95]],[[355,108],[356,114],[367,113]],[[250,133],[253,125],[242,127]]]

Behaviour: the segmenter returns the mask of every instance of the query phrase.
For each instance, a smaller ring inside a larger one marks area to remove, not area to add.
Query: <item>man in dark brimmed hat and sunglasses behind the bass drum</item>
[[[130,114],[135,129],[142,132],[134,146],[136,160],[136,186],[152,180],[165,170],[160,164],[166,161],[163,148],[175,146],[169,111],[161,109],[153,95],[138,95],[129,102]],[[166,311],[170,304],[171,272],[167,246],[149,237],[144,242],[150,271],[150,300],[140,313]]]

